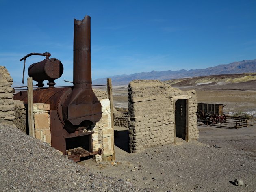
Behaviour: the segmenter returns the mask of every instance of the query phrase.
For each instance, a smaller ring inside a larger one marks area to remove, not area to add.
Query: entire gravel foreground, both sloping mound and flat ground
[[[199,130],[201,142],[206,144],[177,138],[176,145],[141,153],[115,147],[117,162],[89,159],[74,163],[46,143],[0,124],[0,191],[256,192],[255,138],[243,142],[242,150],[236,142],[225,145],[226,137],[207,138],[215,133],[207,131],[208,127]],[[256,127],[231,134],[253,135],[254,130]],[[226,129],[217,132],[222,136],[229,133]],[[210,146],[216,143],[223,148]],[[248,145],[252,146],[246,148]],[[234,179],[239,178],[243,186],[234,185]]]

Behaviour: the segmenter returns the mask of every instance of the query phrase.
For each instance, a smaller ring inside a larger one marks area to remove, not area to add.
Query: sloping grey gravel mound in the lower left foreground
[[[146,191],[93,174],[19,129],[0,124],[0,191]]]

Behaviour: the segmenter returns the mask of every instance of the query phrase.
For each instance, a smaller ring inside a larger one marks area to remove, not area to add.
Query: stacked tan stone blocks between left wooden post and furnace
[[[33,104],[35,138],[51,145],[50,130],[50,105],[37,103]]]

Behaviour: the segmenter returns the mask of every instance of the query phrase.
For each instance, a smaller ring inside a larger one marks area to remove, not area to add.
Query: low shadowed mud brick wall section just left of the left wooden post
[[[26,133],[26,107],[24,103],[19,100],[14,101],[14,112],[15,119],[13,120],[13,124],[21,129],[24,133]]]

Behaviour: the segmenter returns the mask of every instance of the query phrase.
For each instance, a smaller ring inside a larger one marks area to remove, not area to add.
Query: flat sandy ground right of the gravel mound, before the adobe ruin
[[[198,126],[200,142],[176,138],[176,145],[127,153],[115,147],[117,163],[80,162],[94,173],[152,191],[255,192],[256,125],[239,129]],[[213,147],[215,146],[216,147]],[[234,186],[241,178],[245,185]]]

